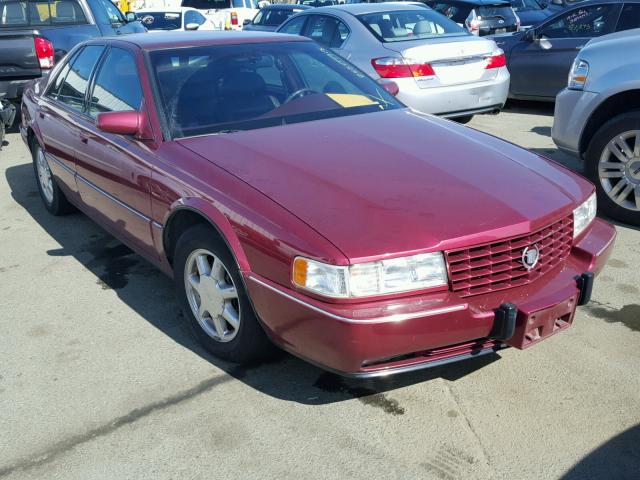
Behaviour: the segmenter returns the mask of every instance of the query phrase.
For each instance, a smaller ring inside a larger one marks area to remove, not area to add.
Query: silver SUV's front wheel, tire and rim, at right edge
[[[585,160],[600,211],[640,226],[640,111],[605,123],[593,136]]]

